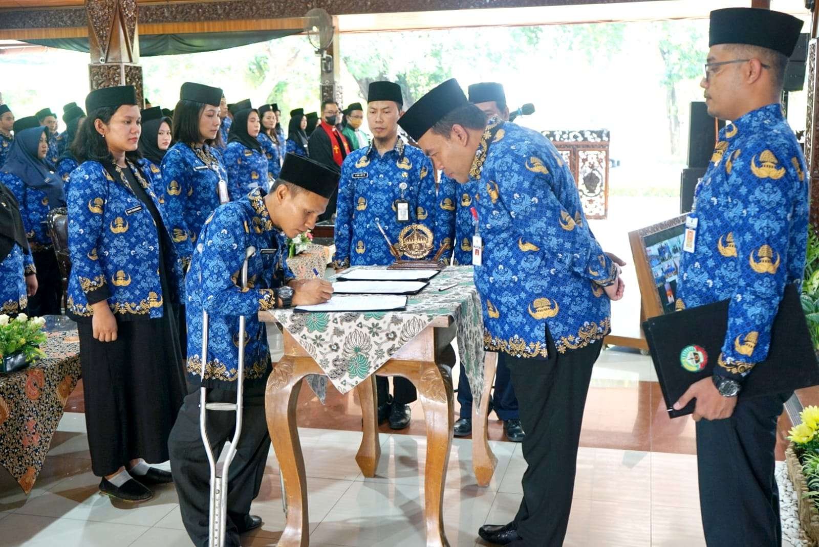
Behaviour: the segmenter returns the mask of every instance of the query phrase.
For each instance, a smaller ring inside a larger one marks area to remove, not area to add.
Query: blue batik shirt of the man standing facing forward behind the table
[[[400,183],[406,183],[403,195],[409,202],[406,222],[399,222],[396,215]],[[419,148],[398,138],[383,156],[374,142],[350,152],[338,182],[334,266],[392,264],[395,258],[378,224],[404,253],[401,258],[432,259],[440,244],[434,237],[436,201],[432,163]],[[451,200],[446,206],[455,210]],[[428,249],[423,256],[424,251],[418,250],[421,246]]]

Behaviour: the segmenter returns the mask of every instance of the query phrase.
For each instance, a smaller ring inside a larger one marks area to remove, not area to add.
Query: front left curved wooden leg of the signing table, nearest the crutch
[[[287,496],[287,525],[278,540],[279,547],[310,545],[305,461],[296,427],[296,402],[305,376],[296,363],[302,360],[285,355],[274,365],[265,391],[267,427],[283,477],[282,495]]]

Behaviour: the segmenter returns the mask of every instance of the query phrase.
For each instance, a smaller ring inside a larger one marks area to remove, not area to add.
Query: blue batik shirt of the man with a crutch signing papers
[[[248,246],[247,289],[242,290],[242,263]],[[264,250],[264,251],[263,251]],[[275,307],[275,287],[295,276],[287,268],[287,238],[270,220],[259,188],[219,206],[208,219],[185,278],[188,294],[188,377],[200,382],[202,310],[208,313],[207,387],[236,389],[239,316],[246,318],[246,382],[262,382],[270,370],[265,323],[260,310]]]

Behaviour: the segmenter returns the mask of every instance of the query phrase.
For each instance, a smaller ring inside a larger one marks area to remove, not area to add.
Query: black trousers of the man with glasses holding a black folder
[[[708,547],[780,547],[774,446],[776,420],[790,395],[740,399],[731,418],[697,423],[699,506]]]

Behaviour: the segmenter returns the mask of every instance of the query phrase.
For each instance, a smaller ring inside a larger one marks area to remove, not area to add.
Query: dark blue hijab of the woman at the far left
[[[48,196],[48,209],[66,206],[66,192],[60,177],[48,169],[46,163],[37,157],[40,136],[43,131],[48,137],[48,128],[44,125],[24,129],[14,136],[11,151],[2,166],[4,173],[16,174],[29,188],[36,188]]]

